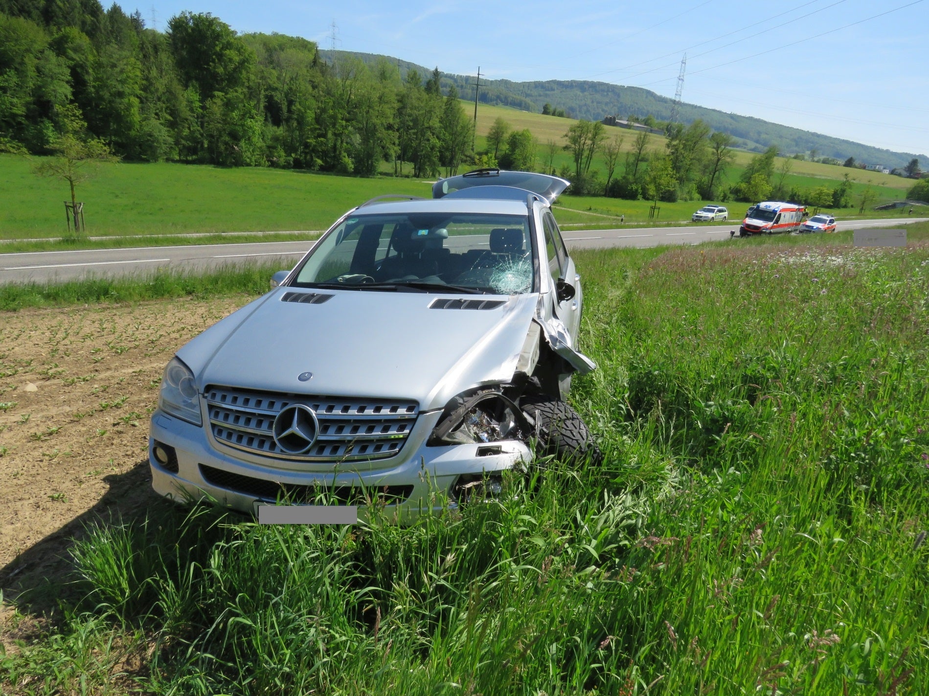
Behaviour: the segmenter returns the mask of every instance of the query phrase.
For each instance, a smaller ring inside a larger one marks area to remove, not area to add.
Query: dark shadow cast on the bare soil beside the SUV
[[[0,568],[0,591],[20,612],[52,618],[61,600],[77,599],[69,548],[94,522],[120,523],[170,514],[175,503],[151,489],[149,462],[143,459],[124,473],[103,478],[110,489],[93,508],[63,524]]]

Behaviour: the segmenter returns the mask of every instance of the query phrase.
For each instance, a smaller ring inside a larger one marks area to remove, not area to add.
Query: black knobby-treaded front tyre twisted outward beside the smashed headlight
[[[525,396],[519,407],[535,421],[544,454],[571,461],[589,458],[594,464],[603,459],[587,424],[565,402],[545,396]]]

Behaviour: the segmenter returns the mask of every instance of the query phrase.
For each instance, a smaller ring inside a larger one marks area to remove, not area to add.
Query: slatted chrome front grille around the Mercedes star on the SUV
[[[208,386],[204,391],[216,441],[266,457],[304,461],[366,461],[396,455],[419,415],[414,401],[307,396]],[[319,420],[316,441],[301,455],[274,442],[274,419],[291,404]]]

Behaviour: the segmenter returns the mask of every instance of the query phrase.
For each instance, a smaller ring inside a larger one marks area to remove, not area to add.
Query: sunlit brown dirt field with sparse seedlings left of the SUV
[[[85,523],[150,504],[164,365],[247,301],[0,313],[0,588],[53,575]]]

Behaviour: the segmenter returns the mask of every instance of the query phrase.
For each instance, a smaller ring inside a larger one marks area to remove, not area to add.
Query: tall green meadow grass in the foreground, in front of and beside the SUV
[[[804,239],[577,254],[599,368],[572,400],[601,467],[547,462],[403,529],[99,522],[78,599],[11,643],[0,683],[929,691],[929,247]]]

